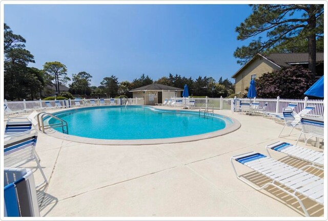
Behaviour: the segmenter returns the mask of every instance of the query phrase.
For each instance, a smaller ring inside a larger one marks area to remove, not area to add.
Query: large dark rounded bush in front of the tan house
[[[301,66],[263,74],[256,80],[257,97],[303,99],[304,92],[316,81],[315,74]]]

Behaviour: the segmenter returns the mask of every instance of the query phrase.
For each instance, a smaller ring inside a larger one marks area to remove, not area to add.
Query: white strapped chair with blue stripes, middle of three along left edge
[[[5,167],[19,167],[30,161],[35,161],[40,170],[44,183],[48,183],[45,173],[39,163],[36,155],[35,145],[37,140],[37,130],[33,129],[31,133],[20,136],[15,136],[7,141],[4,145],[4,165]]]

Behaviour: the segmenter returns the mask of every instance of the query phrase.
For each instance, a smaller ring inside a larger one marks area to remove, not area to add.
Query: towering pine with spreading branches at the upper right
[[[234,52],[238,63],[244,64],[256,53],[268,54],[284,48],[300,48],[308,43],[309,70],[316,73],[316,40],[323,36],[323,5],[251,5],[253,13],[236,28],[238,40],[259,36],[249,46],[238,47]],[[301,15],[297,15],[301,14]],[[263,40],[262,36],[267,38]],[[300,42],[300,43],[299,43]]]

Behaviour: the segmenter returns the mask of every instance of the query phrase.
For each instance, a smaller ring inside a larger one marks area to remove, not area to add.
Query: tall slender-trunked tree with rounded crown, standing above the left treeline
[[[57,95],[60,94],[59,85],[66,84],[70,78],[67,77],[67,68],[64,64],[58,61],[46,62],[43,65],[43,70],[48,75],[52,76],[54,80],[54,85],[56,88]]]

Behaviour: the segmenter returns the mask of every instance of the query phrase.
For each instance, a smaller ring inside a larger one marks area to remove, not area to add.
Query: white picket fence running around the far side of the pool
[[[183,99],[183,98],[172,98],[174,99]],[[80,99],[80,103],[84,106],[90,105],[91,99]],[[99,105],[99,99],[94,99],[95,103]],[[114,98],[114,99],[104,99],[105,103],[110,105],[111,100],[114,100],[114,104],[116,105],[144,105],[144,99],[143,98]],[[249,98],[189,98],[189,100],[195,101],[195,108],[200,108],[206,105],[206,103],[211,103],[211,107],[213,106],[215,109],[228,109],[231,110],[233,107],[231,105],[238,104],[238,102],[241,101],[250,101]],[[304,99],[280,99],[277,98],[270,98],[270,99],[262,99],[262,98],[256,98],[257,102],[260,103],[259,106],[263,106],[265,103],[268,103],[267,106],[267,112],[268,113],[282,113],[283,108],[288,106],[289,103],[297,103],[297,106],[295,108],[295,112],[299,113],[305,106],[307,105],[314,105],[315,109],[311,112],[313,115],[321,115],[323,116],[323,108],[324,103],[323,100],[310,100],[308,97],[305,97]],[[61,105],[64,107],[70,108],[74,107],[74,101],[75,100],[59,100]],[[252,99],[254,101],[254,99]],[[49,101],[52,106],[55,106],[55,101]],[[12,111],[18,111],[21,109],[40,109],[47,107],[45,101],[43,100],[34,100],[34,101],[7,101],[5,100],[5,104],[12,110]]]

